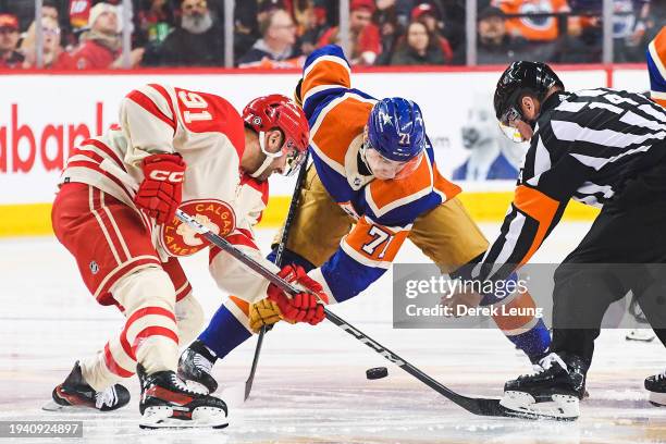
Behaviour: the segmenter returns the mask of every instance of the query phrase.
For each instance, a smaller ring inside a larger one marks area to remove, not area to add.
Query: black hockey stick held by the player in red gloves
[[[273,274],[269,269],[263,267],[263,264],[257,262],[255,259],[250,258],[249,256],[246,256],[243,251],[234,247],[226,239],[212,233],[207,226],[201,225],[190,215],[187,215],[183,211],[177,210],[176,217],[181,221],[185,222],[190,227],[193,227],[196,232],[201,234],[203,237],[206,237],[211,244],[220,247],[221,249],[226,251],[232,257],[238,259],[240,262],[247,266],[250,270],[255,271],[262,278],[267,279],[270,283],[278,286],[285,293],[291,294],[291,295],[298,293],[298,289],[296,289],[292,284],[289,284],[282,278],[278,276],[276,274]],[[503,407],[502,405],[499,405],[499,399],[497,398],[480,398],[480,397],[469,397],[469,396],[460,395],[452,391],[451,388],[442,385],[440,382],[435,381],[428,374],[423,373],[421,370],[419,370],[411,363],[407,362],[405,359],[400,358],[395,353],[391,351],[390,349],[387,349],[386,347],[384,347],[377,341],[372,340],[370,336],[362,333],[360,330],[350,325],[348,322],[340,318],[337,314],[332,313],[329,309],[324,308],[324,312],[329,321],[333,322],[335,325],[340,326],[342,330],[349,333],[356,340],[362,342],[368,347],[372,348],[374,351],[379,353],[384,358],[386,358],[391,362],[395,363],[396,366],[405,370],[407,373],[411,374],[412,377],[421,381],[423,384],[428,385],[429,387],[431,387],[439,394],[443,395],[444,397],[457,404],[458,406],[462,407],[469,412],[472,412],[474,415],[480,415],[480,416],[490,416],[490,417],[517,417],[517,418],[526,418],[526,419],[559,419],[559,418],[555,418],[551,416],[543,416],[543,415],[538,415],[538,414],[532,414],[532,412],[527,412],[527,411],[520,412],[520,411],[509,410]]]

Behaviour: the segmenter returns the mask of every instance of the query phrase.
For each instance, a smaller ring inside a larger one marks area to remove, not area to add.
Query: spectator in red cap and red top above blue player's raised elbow
[[[373,0],[351,0],[349,13],[350,62],[353,65],[371,65],[382,51],[380,32],[371,22],[375,10]],[[318,46],[340,45],[338,27],[332,27],[319,39]]]

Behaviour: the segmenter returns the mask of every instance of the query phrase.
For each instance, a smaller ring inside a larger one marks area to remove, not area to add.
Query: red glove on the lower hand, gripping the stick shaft
[[[268,298],[278,305],[282,318],[288,322],[308,322],[312,325],[320,323],[325,318],[323,306],[329,304],[329,296],[321,285],[298,266],[286,266],[278,275],[305,289],[289,297],[275,285],[269,285]]]

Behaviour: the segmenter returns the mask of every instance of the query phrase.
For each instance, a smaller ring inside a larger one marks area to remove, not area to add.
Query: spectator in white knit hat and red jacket
[[[118,34],[118,12],[114,5],[97,3],[88,16],[90,30],[81,36],[81,46],[74,51],[74,63],[79,70],[119,69],[123,66],[122,40]],[[132,66],[141,61],[144,49],[131,52]]]

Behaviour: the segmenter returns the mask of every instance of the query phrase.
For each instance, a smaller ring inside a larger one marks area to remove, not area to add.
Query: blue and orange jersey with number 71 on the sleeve
[[[308,57],[301,97],[319,178],[333,200],[357,220],[336,252],[309,273],[342,301],[379,279],[414,221],[460,188],[439,173],[430,145],[417,171],[407,177],[381,181],[359,172],[363,127],[377,99],[351,88],[349,63],[340,47],[330,45]]]

